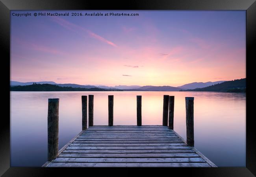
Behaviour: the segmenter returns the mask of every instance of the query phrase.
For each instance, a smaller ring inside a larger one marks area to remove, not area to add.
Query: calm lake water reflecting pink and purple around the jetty
[[[11,166],[47,161],[48,98],[59,98],[59,149],[82,130],[82,95],[94,95],[94,125],[108,125],[108,95],[114,95],[114,125],[137,125],[136,95],[142,95],[142,125],[161,125],[163,95],[174,95],[174,130],[186,139],[185,97],[195,97],[195,148],[219,167],[246,166],[246,94],[218,92],[10,92]]]

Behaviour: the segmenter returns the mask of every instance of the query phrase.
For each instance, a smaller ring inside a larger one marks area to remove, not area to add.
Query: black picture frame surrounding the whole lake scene
[[[2,89],[9,92],[9,79],[7,72],[10,68],[10,10],[246,10],[246,77],[247,77],[247,99],[246,99],[246,167],[232,168],[21,168],[10,167],[10,112],[9,101],[2,101],[2,114],[0,123],[0,175],[2,176],[51,176],[74,175],[74,173],[102,175],[104,172],[110,175],[134,174],[133,170],[144,172],[161,171],[161,175],[167,172],[172,175],[178,172],[182,175],[187,173],[192,176],[232,176],[250,177],[256,175],[256,138],[254,126],[255,94],[252,91],[253,61],[256,59],[253,46],[256,46],[256,2],[255,0],[128,0],[128,1],[96,1],[96,0],[0,0],[0,39],[2,49],[2,69],[0,70],[4,83]],[[10,100],[8,94],[4,94],[6,100]],[[5,103],[7,102],[7,103]],[[9,115],[9,116],[8,116]],[[253,116],[254,115],[254,116]],[[236,135],[234,135],[235,138]],[[132,169],[132,170],[130,170]],[[120,171],[118,173],[116,170]]]

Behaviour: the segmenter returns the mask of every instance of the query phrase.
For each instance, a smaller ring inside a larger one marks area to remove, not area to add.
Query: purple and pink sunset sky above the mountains
[[[246,11],[12,12],[32,13],[11,16],[12,81],[177,87],[246,77]]]

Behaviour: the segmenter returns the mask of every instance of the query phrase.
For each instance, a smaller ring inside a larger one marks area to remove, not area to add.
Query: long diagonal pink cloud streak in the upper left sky
[[[105,39],[104,37],[101,37],[100,35],[97,35],[96,33],[93,33],[92,31],[90,30],[87,30],[79,25],[76,25],[76,24],[73,24],[67,20],[64,20],[63,18],[59,18],[59,17],[52,17],[52,21],[58,23],[59,25],[63,26],[64,28],[68,29],[68,30],[71,30],[71,31],[74,31],[76,33],[80,33],[81,31],[85,31],[89,36],[99,40],[99,41],[102,41],[102,42],[105,42],[111,46],[114,46],[114,47],[117,47],[116,44],[114,44],[113,42],[111,41],[108,41],[107,39]]]

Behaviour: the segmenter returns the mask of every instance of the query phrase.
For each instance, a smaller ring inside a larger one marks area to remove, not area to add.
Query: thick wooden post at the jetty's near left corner
[[[48,99],[48,161],[58,155],[59,144],[59,98]]]

